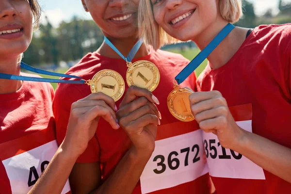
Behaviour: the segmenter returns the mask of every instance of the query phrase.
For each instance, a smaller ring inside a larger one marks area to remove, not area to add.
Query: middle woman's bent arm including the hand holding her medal
[[[135,100],[136,97],[140,98]],[[90,168],[86,167],[91,165],[90,163],[76,163],[70,176],[71,186],[74,187],[73,192],[78,194],[90,192],[94,194],[132,193],[155,146],[159,112],[153,102],[159,102],[156,99],[154,101],[152,97],[152,94],[145,89],[129,88],[116,116],[121,127],[129,135],[133,146],[117,164],[111,176],[101,185],[100,171],[92,172]],[[99,165],[99,163],[95,164]],[[86,187],[83,177],[91,180],[94,178],[95,184],[92,183]]]

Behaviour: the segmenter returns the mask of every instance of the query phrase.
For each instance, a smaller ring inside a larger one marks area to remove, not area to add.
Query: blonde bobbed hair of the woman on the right
[[[235,23],[242,17],[242,0],[219,0],[221,16],[229,23]],[[141,0],[139,4],[139,36],[154,49],[167,44],[180,42],[165,32],[155,21],[150,0]]]

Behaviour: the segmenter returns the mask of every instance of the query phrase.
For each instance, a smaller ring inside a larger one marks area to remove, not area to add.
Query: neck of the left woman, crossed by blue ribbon
[[[20,75],[19,56],[0,56],[0,73]],[[0,79],[0,94],[16,92],[22,81]]]

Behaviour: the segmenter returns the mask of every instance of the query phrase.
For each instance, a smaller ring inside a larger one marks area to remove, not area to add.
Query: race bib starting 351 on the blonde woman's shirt
[[[230,107],[238,126],[252,132],[251,105]],[[238,121],[239,120],[239,121]],[[203,144],[212,177],[265,179],[264,171],[242,154],[222,147],[216,135],[203,131]]]

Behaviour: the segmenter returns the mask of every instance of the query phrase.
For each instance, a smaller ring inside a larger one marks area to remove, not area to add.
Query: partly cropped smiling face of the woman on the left
[[[28,48],[32,18],[28,0],[0,1],[0,56],[19,55]]]

